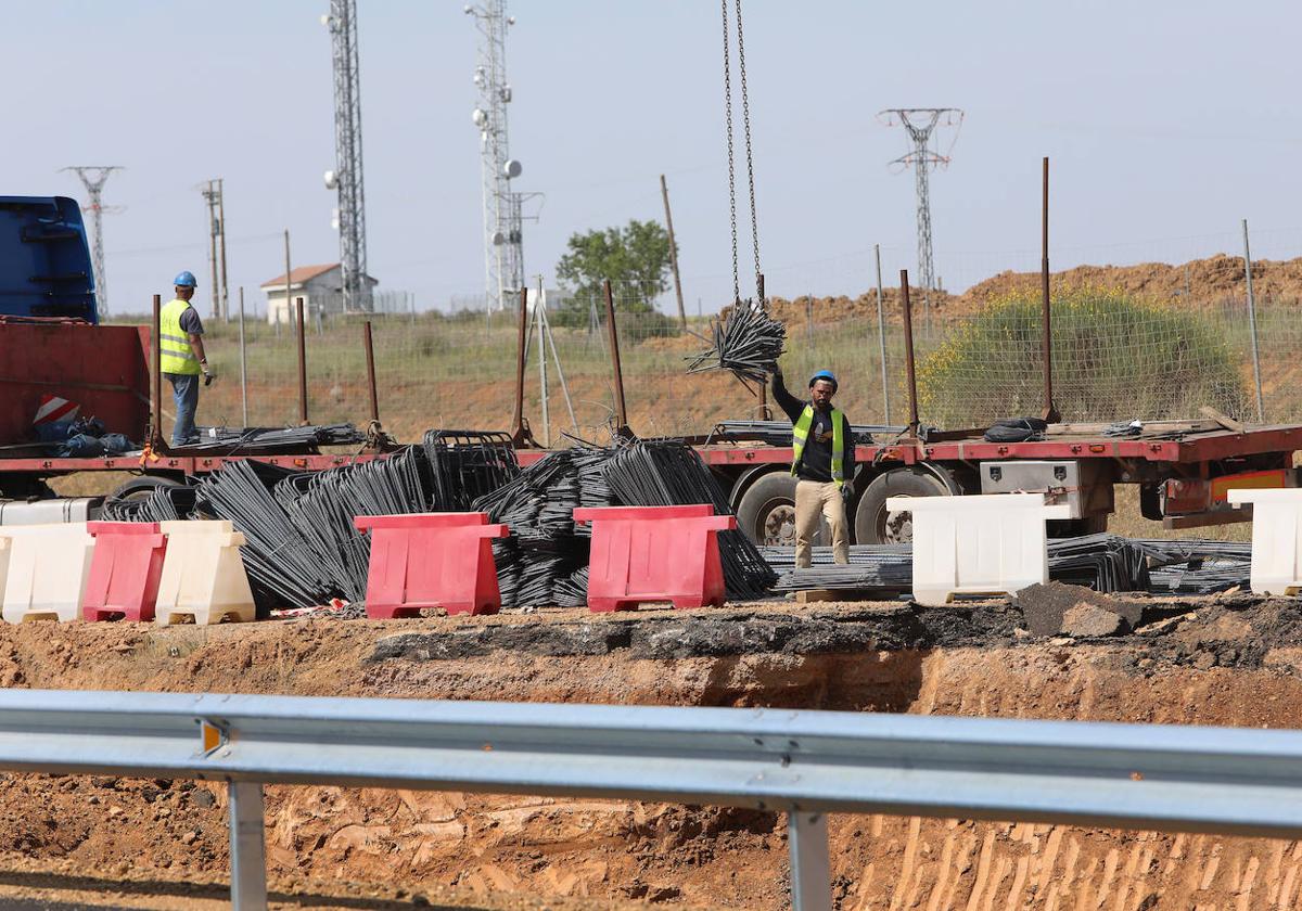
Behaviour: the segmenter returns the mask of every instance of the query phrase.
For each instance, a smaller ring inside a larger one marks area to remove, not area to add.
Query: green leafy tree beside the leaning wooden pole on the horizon
[[[647,320],[663,316],[655,310],[655,298],[669,290],[669,233],[658,223],[634,219],[624,228],[575,233],[565,247],[556,277],[574,297],[561,306],[556,323],[586,325],[591,302],[602,298],[607,279],[616,286],[621,312],[644,314]]]

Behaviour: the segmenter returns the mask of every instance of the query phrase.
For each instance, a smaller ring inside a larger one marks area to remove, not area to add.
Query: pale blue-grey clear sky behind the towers
[[[181,268],[207,284],[195,186],[224,177],[232,294],[243,285],[260,306],[284,228],[296,263],[339,256],[322,184],[327,7],[5,0],[0,193],[82,198],[59,168],[124,165],[107,185],[125,211],[105,216],[105,250],[113,310],[128,311]],[[461,1],[359,7],[370,272],[445,306],[483,285],[475,30]],[[665,173],[689,307],[716,310],[732,286],[719,7],[510,12],[512,155],[519,189],[546,194],[527,271],[549,276],[575,230],[660,219]],[[888,276],[914,268],[913,176],[887,167],[906,151],[875,117],[887,107],[967,113],[952,167],[932,176],[950,289],[1038,268],[1043,155],[1056,268],[1237,252],[1243,217],[1254,255],[1299,252],[1295,3],[747,0],[745,13],[771,293],[861,293],[874,243]]]

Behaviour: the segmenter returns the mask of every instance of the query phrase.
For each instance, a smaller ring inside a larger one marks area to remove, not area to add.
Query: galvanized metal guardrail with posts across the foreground
[[[0,769],[230,782],[240,911],[266,908],[266,783],[785,812],[802,911],[832,906],[829,812],[1302,836],[1302,731],[1259,729],[4,690]]]

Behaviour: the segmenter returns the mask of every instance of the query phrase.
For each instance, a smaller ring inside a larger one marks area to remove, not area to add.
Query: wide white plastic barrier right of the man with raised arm
[[[1072,518],[1043,493],[891,497],[887,509],[913,513],[913,597],[932,605],[1048,582],[1044,521]]]

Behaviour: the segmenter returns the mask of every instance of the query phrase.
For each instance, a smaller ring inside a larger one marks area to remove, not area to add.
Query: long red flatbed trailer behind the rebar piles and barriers
[[[79,471],[141,475],[126,489],[201,476],[237,461],[319,471],[381,457],[354,453],[216,453],[55,458],[30,441],[31,416],[44,393],[78,401],[83,414],[109,429],[150,423],[150,345],[143,327],[87,325],[48,320],[0,320],[0,497],[40,495],[46,478]],[[57,353],[52,357],[51,353]],[[518,393],[517,393],[518,398]],[[517,401],[518,410],[518,401]],[[1072,506],[1057,534],[1107,527],[1113,485],[1138,484],[1141,509],[1168,527],[1194,527],[1250,518],[1225,493],[1234,487],[1294,487],[1294,452],[1302,426],[1245,428],[1215,418],[1150,422],[1137,439],[1103,433],[1104,424],[1051,424],[1044,440],[987,442],[982,431],[932,433],[924,441],[878,440],[855,448],[854,537],[859,543],[909,537],[907,514],[885,510],[889,496],[937,496],[1042,491]],[[727,435],[724,435],[727,436]],[[771,439],[771,437],[769,437]],[[792,540],[794,480],[789,445],[719,432],[691,440],[729,493],[741,527],[767,543]],[[522,465],[546,453],[518,450]]]

